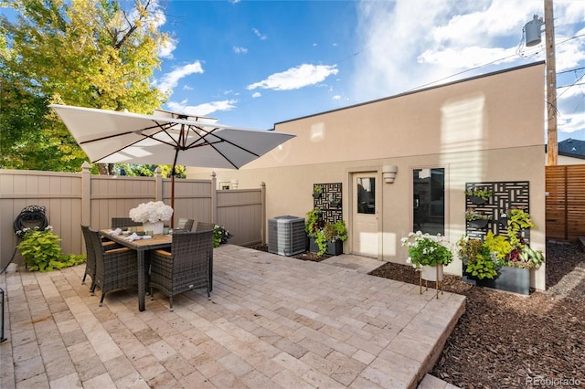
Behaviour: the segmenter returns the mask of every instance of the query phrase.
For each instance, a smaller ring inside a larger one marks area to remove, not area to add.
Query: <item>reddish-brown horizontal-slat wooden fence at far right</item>
[[[585,236],[585,164],[546,167],[547,238]]]

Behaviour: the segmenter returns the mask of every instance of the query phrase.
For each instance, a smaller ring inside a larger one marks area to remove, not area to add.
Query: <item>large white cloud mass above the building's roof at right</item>
[[[516,47],[522,41],[523,26],[533,15],[543,16],[543,8],[541,0],[360,2],[356,31],[360,46],[367,49],[356,57],[352,100],[372,100],[438,80],[452,81],[451,76],[462,69],[488,63],[493,66],[456,77],[473,77],[503,63],[506,67],[527,63],[526,58],[515,56]],[[571,31],[566,23],[583,20],[585,1],[555,1],[557,36],[561,31],[567,37],[575,36],[575,28]],[[558,45],[557,71],[579,61],[582,64],[585,47],[580,44],[585,40]],[[532,51],[528,60],[541,60],[542,51],[543,47],[537,55]]]

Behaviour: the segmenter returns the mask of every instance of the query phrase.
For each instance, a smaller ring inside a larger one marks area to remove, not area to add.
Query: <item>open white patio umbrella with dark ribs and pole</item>
[[[172,165],[173,208],[176,165],[239,169],[294,137],[172,112],[155,116],[58,104],[49,107],[58,113],[92,163]]]

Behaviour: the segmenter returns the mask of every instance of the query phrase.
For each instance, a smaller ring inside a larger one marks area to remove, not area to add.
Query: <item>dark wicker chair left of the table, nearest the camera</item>
[[[138,258],[136,251],[129,247],[106,250],[101,245],[100,233],[90,228],[88,230],[87,239],[95,253],[95,281],[90,290],[94,293],[95,287],[100,287],[101,307],[107,292],[138,283]]]

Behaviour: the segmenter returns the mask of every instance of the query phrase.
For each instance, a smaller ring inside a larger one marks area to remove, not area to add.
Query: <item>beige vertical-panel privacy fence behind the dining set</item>
[[[130,209],[149,201],[171,204],[171,179],[91,175],[90,165],[81,173],[0,170],[0,270],[15,254],[18,244],[14,221],[27,205],[47,208],[48,224],[61,238],[64,254],[84,252],[80,225],[107,228],[113,216],[128,216]],[[225,226],[229,243],[252,245],[266,241],[265,187],[216,190],[210,180],[175,182],[175,224],[180,217]],[[21,262],[16,252],[14,261]]]

